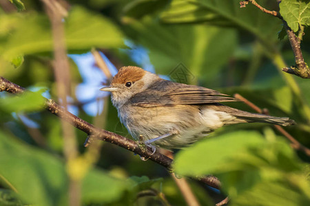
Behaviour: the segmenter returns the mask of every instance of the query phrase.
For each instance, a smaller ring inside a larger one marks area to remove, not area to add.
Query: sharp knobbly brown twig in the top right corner
[[[279,12],[265,9],[261,5],[259,5],[255,0],[240,1],[240,8],[245,8],[245,6],[249,2],[255,5],[260,10],[262,10],[262,12],[271,14],[272,16],[276,16],[279,19],[281,19],[283,26],[285,27],[285,31],[287,32],[287,36],[289,37],[289,43],[291,44],[291,49],[293,50],[295,56],[296,65],[293,65],[291,67],[284,67],[282,68],[282,71],[294,74],[296,76],[299,76],[300,78],[310,78],[309,66],[307,65],[306,62],[304,62],[304,57],[302,56],[302,51],[300,49],[300,41],[302,40],[302,35],[304,35],[304,27],[303,26],[300,27],[300,32],[298,36],[296,36],[293,30],[291,30],[291,27],[287,25],[287,21],[283,19],[283,17]],[[277,2],[278,4],[281,3],[281,1]]]

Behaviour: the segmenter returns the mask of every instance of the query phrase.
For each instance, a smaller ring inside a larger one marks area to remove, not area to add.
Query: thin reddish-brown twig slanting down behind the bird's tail
[[[256,106],[254,103],[250,102],[249,100],[247,100],[246,98],[242,97],[242,95],[236,93],[234,95],[234,98],[237,98],[239,100],[241,100],[242,102],[245,102],[245,104],[249,105],[251,108],[254,109],[254,111],[258,112],[258,113],[262,113],[265,115],[269,115],[269,112],[266,108],[261,109],[258,106]],[[293,146],[294,149],[296,150],[300,150],[302,152],[304,152],[306,155],[310,156],[310,150],[309,148],[306,148],[305,146],[303,146],[302,144],[300,144],[299,141],[297,141],[293,136],[291,136],[289,133],[287,133],[287,131],[285,129],[283,129],[281,126],[279,125],[273,125],[283,136],[287,137],[287,139],[289,139],[289,141],[291,141],[291,144]]]

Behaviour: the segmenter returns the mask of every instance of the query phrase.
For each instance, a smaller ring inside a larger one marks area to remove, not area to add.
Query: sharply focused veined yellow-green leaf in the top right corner
[[[287,25],[297,32],[301,25],[310,25],[310,1],[282,0],[280,14],[287,21]]]

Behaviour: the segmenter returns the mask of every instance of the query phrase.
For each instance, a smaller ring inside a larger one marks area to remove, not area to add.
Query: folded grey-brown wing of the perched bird
[[[216,102],[237,102],[235,98],[218,91],[161,80],[142,93],[134,95],[130,102],[136,106],[152,107],[176,104],[210,104]]]

